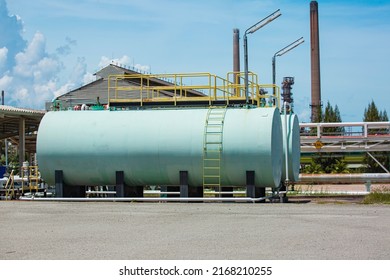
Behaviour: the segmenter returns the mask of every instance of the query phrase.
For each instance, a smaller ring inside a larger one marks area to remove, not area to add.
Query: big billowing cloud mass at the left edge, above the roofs
[[[7,105],[44,108],[45,101],[91,80],[84,59],[79,59],[68,82],[59,84],[64,69],[62,59],[77,42],[69,37],[50,53],[46,39],[36,32],[30,42],[23,39],[23,21],[9,15],[5,0],[0,0],[0,88],[7,92]]]

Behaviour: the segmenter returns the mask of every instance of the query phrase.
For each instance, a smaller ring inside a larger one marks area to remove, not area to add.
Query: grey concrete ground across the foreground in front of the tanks
[[[390,206],[0,201],[0,259],[390,259]]]

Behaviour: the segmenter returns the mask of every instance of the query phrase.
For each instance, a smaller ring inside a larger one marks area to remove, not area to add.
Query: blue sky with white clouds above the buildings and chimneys
[[[322,101],[343,121],[361,121],[374,100],[390,113],[390,1],[318,0]],[[276,9],[282,16],[248,35],[249,70],[277,84],[295,77],[295,112],[310,118],[310,1],[0,0],[0,89],[6,104],[43,108],[112,60],[152,73],[232,70],[233,28],[241,33]],[[3,35],[5,34],[5,35]]]

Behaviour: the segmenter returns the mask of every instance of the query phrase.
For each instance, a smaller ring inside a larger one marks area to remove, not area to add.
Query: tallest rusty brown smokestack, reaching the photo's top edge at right
[[[321,112],[320,38],[318,28],[318,3],[310,2],[311,45],[311,121],[318,122]]]

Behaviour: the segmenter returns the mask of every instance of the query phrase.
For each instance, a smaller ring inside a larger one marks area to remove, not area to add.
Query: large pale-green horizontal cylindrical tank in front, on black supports
[[[209,109],[49,112],[41,121],[37,160],[43,179],[66,185],[203,184],[205,123]],[[282,175],[282,129],[276,108],[228,108],[223,122],[221,185],[277,187]]]

